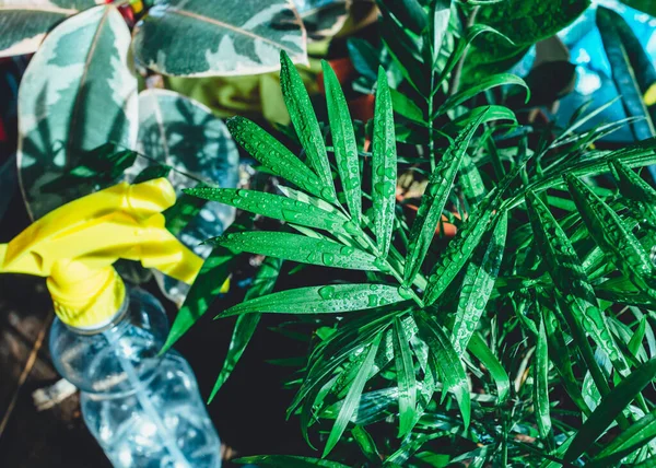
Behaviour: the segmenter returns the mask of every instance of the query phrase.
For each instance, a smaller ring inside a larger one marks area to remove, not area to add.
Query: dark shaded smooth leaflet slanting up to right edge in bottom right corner
[[[570,444],[563,459],[574,461],[606,431],[613,419],[656,377],[656,359],[633,371],[593,411]]]

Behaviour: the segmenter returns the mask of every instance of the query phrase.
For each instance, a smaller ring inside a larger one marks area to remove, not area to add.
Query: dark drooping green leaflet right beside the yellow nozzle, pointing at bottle
[[[226,233],[245,231],[250,227],[249,225],[249,222],[244,222],[243,218],[238,218],[227,229]],[[223,283],[230,277],[237,255],[238,251],[221,246],[212,249],[210,256],[202,264],[196,280],[194,280],[160,353],[168,351],[212,305],[223,288]]]

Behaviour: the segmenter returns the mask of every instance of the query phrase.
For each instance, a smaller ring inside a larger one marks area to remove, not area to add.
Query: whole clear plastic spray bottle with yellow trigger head
[[[128,290],[112,266],[140,260],[190,283],[202,260],[166,231],[175,203],[159,178],[65,204],[0,244],[0,272],[47,278],[55,304],[50,352],[81,390],[84,421],[116,467],[220,467],[220,442],[189,364],[159,354],[162,305]]]

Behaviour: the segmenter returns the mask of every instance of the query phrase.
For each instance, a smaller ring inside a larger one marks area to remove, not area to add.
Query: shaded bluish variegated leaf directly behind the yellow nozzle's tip
[[[139,94],[137,149],[149,160],[173,168],[168,180],[178,194],[178,203],[186,201],[186,196],[180,196],[183,188],[194,187],[197,179],[224,188],[237,185],[239,152],[227,127],[208,107],[181,94],[165,90]],[[130,172],[141,172],[144,163],[148,160],[139,157]],[[221,235],[234,217],[234,208],[209,201],[183,227],[178,238],[207,257],[211,248],[202,241]],[[169,297],[175,299],[176,291],[185,289],[180,282],[157,272],[155,277]]]

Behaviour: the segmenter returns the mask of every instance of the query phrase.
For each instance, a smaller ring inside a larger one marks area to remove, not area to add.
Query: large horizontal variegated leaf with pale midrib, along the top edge
[[[273,71],[281,50],[307,63],[305,28],[291,0],[159,2],[134,35],[144,66],[178,77]]]

